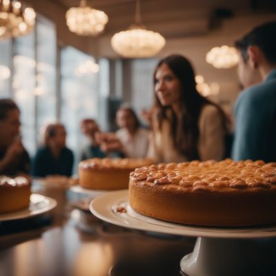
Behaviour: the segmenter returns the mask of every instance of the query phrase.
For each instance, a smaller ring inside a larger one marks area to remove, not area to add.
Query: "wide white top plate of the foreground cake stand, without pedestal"
[[[123,207],[126,213],[117,212],[117,207]],[[128,204],[128,190],[118,190],[102,195],[92,200],[90,211],[99,219],[110,224],[174,235],[193,237],[228,237],[228,238],[257,238],[275,237],[276,225],[258,227],[202,227],[175,224],[159,219],[152,219],[140,215],[132,210]]]

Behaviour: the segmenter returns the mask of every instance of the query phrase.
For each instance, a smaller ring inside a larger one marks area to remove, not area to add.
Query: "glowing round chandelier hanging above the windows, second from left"
[[[101,10],[95,10],[81,0],[79,7],[70,8],[66,12],[66,24],[71,32],[83,36],[96,36],[103,32],[108,23],[108,16]]]

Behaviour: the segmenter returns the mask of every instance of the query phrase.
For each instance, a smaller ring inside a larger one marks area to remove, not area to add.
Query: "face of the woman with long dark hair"
[[[173,106],[180,101],[181,82],[166,63],[162,63],[156,71],[155,93],[162,106]]]

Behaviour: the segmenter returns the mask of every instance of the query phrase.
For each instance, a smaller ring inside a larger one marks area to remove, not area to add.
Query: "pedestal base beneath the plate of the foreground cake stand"
[[[274,246],[275,239],[198,237],[180,267],[188,276],[276,275]]]

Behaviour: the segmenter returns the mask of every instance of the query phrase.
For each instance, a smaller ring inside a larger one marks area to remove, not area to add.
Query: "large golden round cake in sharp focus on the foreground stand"
[[[191,161],[130,173],[130,206],[138,213],[199,226],[276,223],[276,163]]]

